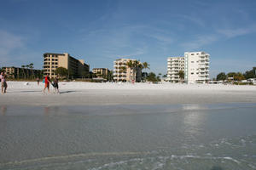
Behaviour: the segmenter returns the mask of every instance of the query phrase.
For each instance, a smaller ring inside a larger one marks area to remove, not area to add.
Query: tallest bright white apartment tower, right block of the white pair
[[[185,52],[184,53],[184,79],[188,83],[204,83],[209,78],[210,54],[205,52]]]

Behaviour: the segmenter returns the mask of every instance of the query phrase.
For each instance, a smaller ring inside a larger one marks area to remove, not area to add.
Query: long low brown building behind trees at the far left
[[[2,70],[9,78],[41,78],[43,75],[42,70],[19,68],[15,66],[3,67]]]

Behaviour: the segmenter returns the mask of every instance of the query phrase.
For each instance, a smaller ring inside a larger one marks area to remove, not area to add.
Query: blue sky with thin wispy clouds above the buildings
[[[68,53],[93,68],[139,59],[166,74],[167,57],[205,51],[210,77],[256,66],[255,0],[0,0],[0,66]]]

